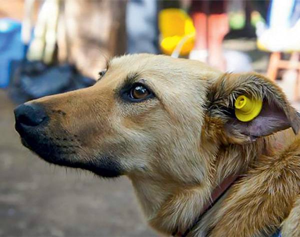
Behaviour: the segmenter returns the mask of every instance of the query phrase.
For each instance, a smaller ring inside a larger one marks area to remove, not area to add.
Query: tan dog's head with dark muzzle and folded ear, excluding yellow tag
[[[250,122],[235,118],[238,95],[263,99]],[[292,127],[296,112],[256,74],[222,74],[162,55],[112,59],[91,87],[15,109],[22,143],[44,160],[104,177],[148,176],[187,182],[207,175],[220,145],[247,144]]]

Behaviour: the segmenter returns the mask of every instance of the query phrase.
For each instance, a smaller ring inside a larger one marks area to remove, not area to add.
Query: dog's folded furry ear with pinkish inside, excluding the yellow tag
[[[241,122],[236,118],[234,102],[239,95],[262,100],[262,109],[253,120]],[[259,74],[225,73],[211,82],[207,99],[207,116],[222,122],[231,142],[254,141],[289,127],[297,134],[300,129],[299,115],[281,89]]]

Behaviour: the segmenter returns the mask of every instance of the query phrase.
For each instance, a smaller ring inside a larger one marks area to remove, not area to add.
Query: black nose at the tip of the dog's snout
[[[26,103],[14,109],[15,123],[35,127],[47,119],[44,109],[37,103]]]

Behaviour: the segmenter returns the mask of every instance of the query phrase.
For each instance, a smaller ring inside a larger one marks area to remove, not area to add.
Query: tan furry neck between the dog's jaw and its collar
[[[263,144],[263,141],[260,143]],[[257,147],[257,144],[255,146]],[[182,187],[178,187],[178,183],[168,183],[165,180],[130,177],[149,224],[164,234],[184,233],[195,223],[207,203],[213,199],[212,193],[215,188],[220,186],[227,177],[234,177],[247,169],[250,162],[263,152],[263,145],[260,147],[255,153],[248,151],[251,145],[219,148],[215,153],[217,155],[211,159],[214,161],[215,169],[213,182],[209,182],[207,178],[207,182],[197,185],[183,184]],[[230,157],[226,157],[228,155]],[[222,191],[224,190],[220,190],[220,193]],[[215,213],[218,206],[213,206],[208,215]]]

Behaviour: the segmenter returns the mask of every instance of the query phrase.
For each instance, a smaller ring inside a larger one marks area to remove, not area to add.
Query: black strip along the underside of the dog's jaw
[[[96,156],[91,159],[80,159],[76,151],[63,151],[57,145],[35,143],[21,137],[21,143],[46,162],[91,171],[104,178],[118,177],[124,174],[119,163],[110,156]]]

